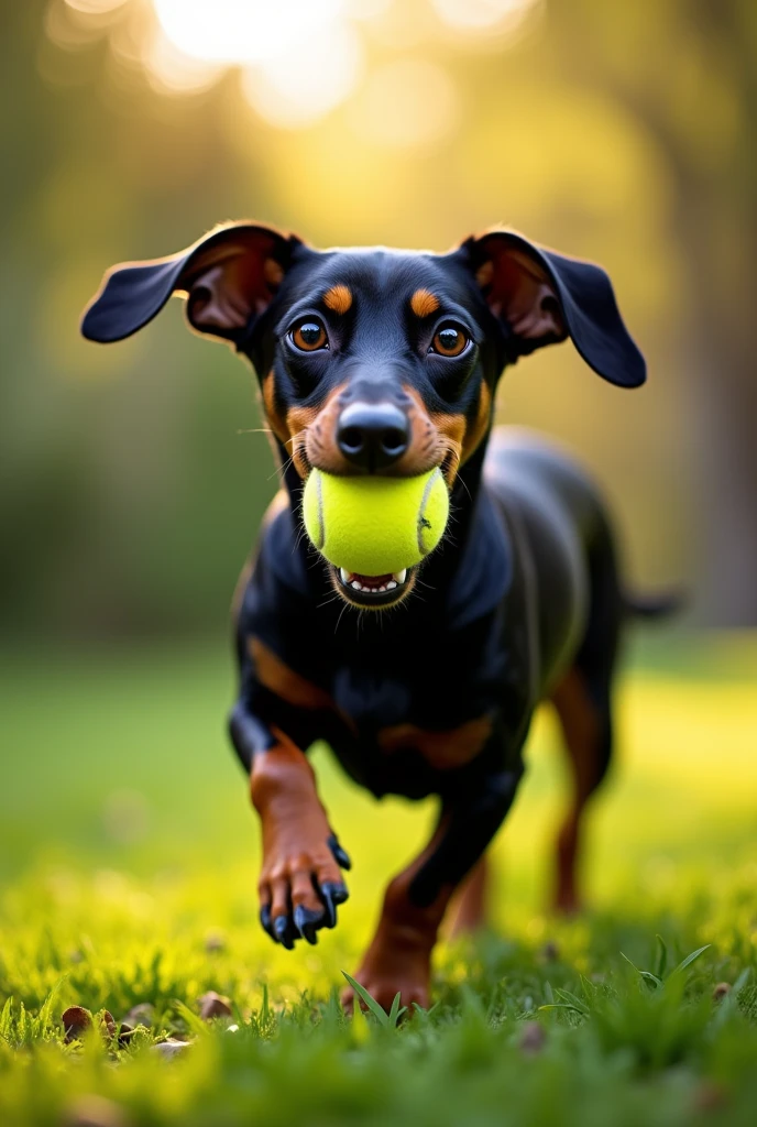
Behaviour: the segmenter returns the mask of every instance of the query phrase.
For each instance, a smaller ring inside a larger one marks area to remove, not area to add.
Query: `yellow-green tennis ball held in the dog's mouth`
[[[437,468],[415,478],[336,477],[312,470],[302,511],[308,535],[335,567],[389,575],[420,564],[444,535],[449,495]]]

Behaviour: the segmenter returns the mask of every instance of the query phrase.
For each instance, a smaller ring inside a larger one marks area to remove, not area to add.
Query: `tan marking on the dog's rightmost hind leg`
[[[560,718],[573,769],[572,802],[558,835],[554,907],[560,912],[576,912],[580,907],[577,868],[581,816],[597,781],[600,727],[596,707],[578,669],[568,671],[552,692],[551,700]]]

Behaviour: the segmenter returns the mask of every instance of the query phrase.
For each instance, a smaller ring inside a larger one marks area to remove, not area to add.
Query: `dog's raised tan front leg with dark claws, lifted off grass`
[[[318,930],[333,928],[337,905],[347,899],[340,867],[349,869],[349,858],[329,825],[303,752],[240,707],[231,731],[240,754],[251,761],[250,793],[260,816],[260,923],[290,950],[300,938],[315,943]]]

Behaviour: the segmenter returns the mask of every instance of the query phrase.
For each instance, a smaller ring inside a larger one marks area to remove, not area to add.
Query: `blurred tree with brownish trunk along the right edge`
[[[668,168],[703,602],[712,622],[755,625],[757,5],[551,0],[549,14],[565,79],[625,106]]]

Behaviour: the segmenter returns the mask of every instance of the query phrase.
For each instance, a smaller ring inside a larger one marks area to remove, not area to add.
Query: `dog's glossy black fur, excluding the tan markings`
[[[249,228],[251,232],[267,229]],[[471,419],[481,385],[492,392],[504,366],[542,344],[514,331],[477,282],[491,249],[467,240],[448,255],[385,250],[318,252],[273,236],[267,252],[283,281],[243,326],[219,328],[195,319],[205,294],[193,290],[198,256],[223,246],[226,231],[182,255],[128,266],[109,276],[87,312],[91,339],[121,339],[149,321],[175,290],[189,292],[189,318],[201,331],[231,340],[264,376],[273,371],[276,400],[318,407],[337,387],[356,398],[402,403],[412,387],[429,411]],[[252,236],[251,236],[252,238]],[[564,334],[587,363],[622,387],[644,380],[641,354],[598,267],[543,251],[514,234],[508,247],[546,278]],[[296,316],[328,317],[319,294],[346,284],[354,308],[331,327],[329,356],[292,354]],[[425,287],[445,316],[470,331],[473,350],[451,364],[417,347],[410,294]],[[199,321],[199,323],[198,323]],[[605,720],[600,772],[609,755],[609,686],[624,609],[613,542],[593,485],[575,463],[542,440],[518,432],[484,435],[452,489],[452,521],[407,601],[386,612],[358,613],[335,595],[332,576],[302,532],[302,478],[279,441],[288,504],[264,531],[241,594],[237,621],[241,690],[231,717],[246,769],[271,746],[271,726],[299,747],[326,739],[346,771],[375,796],[438,795],[446,828],[412,882],[418,904],[457,884],[501,824],[523,773],[522,751],[537,702],[571,666],[581,668]],[[292,671],[318,686],[335,708],[294,707],[262,685],[249,649],[255,637]],[[434,767],[417,749],[388,755],[379,735],[412,725],[449,731],[488,718],[490,734],[471,762]]]

